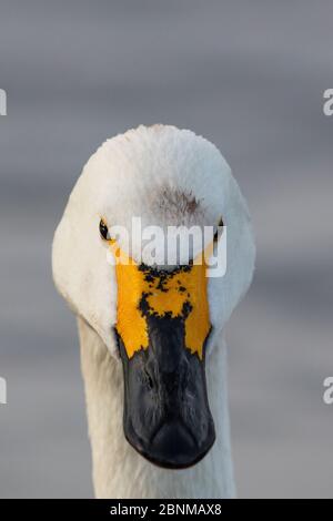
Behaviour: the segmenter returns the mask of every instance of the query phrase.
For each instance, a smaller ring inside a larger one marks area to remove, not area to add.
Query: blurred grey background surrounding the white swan
[[[50,249],[108,136],[213,141],[249,201],[254,284],[228,327],[240,497],[332,497],[330,0],[2,0],[0,497],[92,497],[74,317]]]

